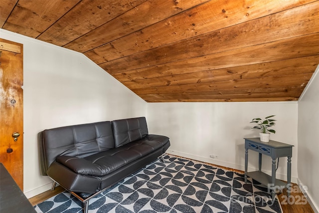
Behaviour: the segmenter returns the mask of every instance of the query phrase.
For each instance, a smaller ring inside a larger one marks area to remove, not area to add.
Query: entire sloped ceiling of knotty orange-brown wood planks
[[[147,102],[294,101],[319,64],[318,0],[0,0],[0,26]]]

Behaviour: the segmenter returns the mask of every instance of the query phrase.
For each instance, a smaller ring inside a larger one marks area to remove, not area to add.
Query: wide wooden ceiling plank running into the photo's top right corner
[[[319,32],[318,8],[319,1],[316,1],[109,63],[112,66],[147,67]],[[97,49],[94,52],[100,54]]]

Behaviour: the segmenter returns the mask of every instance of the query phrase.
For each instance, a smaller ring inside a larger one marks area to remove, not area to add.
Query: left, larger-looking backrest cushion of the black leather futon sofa
[[[58,156],[84,158],[115,146],[110,121],[47,129],[41,134],[45,172]]]

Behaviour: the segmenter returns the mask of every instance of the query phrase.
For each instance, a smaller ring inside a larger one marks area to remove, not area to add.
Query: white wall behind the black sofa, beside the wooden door
[[[81,53],[0,29],[23,44],[24,193],[50,188],[40,175],[37,134],[54,127],[146,116],[147,103]]]

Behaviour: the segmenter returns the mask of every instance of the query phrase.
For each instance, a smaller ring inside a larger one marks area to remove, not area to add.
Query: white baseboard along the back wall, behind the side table
[[[245,171],[245,166],[244,165],[233,164],[233,163],[221,161],[221,160],[218,160],[218,159],[212,159],[212,158],[192,155],[192,154],[188,154],[188,153],[184,153],[184,152],[178,152],[178,151],[169,150],[169,149],[166,151],[166,153],[167,154],[172,154],[172,155],[177,155],[177,156],[184,157],[184,158],[197,160],[197,161],[202,161],[202,162],[206,162],[206,163],[210,163],[210,164],[215,164],[215,165],[219,165],[219,166],[223,166],[223,167],[228,167],[228,168],[231,168],[231,169]],[[256,170],[258,170],[258,168],[248,167],[248,172],[252,172],[252,171],[256,171]],[[271,171],[264,171],[263,170],[263,172],[271,176]],[[279,179],[279,180],[284,180],[285,181],[285,180],[287,180],[287,175],[276,173],[276,178]],[[292,183],[297,183],[297,177],[293,177],[292,176],[291,177],[291,182]]]

